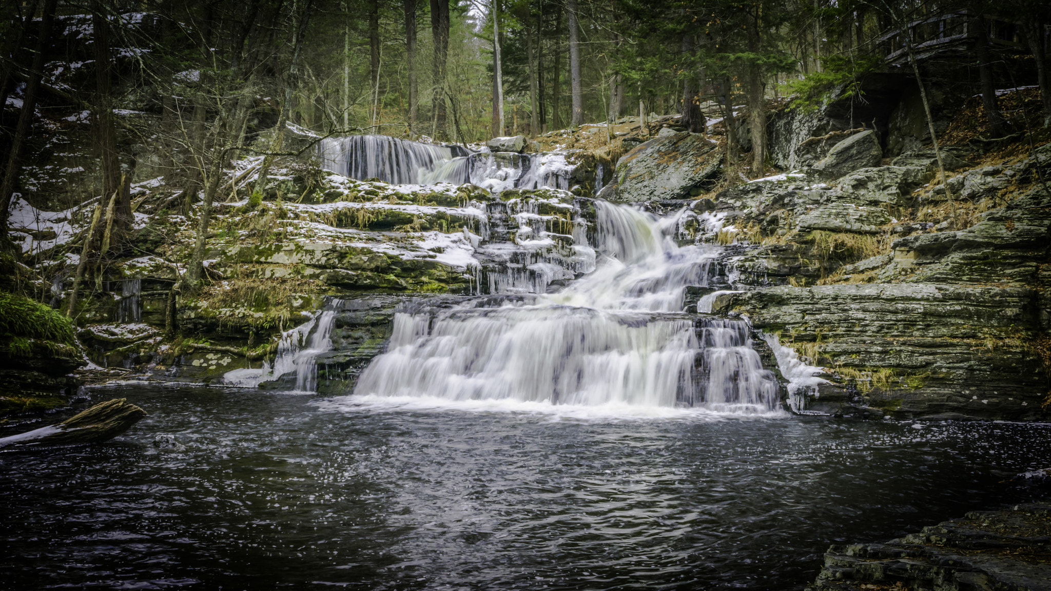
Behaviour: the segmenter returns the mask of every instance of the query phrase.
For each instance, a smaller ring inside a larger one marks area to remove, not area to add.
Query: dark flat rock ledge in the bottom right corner
[[[831,546],[808,591],[1048,589],[1051,506],[971,511],[886,544]]]

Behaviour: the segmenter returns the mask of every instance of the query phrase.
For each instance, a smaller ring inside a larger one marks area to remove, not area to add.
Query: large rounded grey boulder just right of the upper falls
[[[682,199],[719,170],[723,150],[700,134],[671,134],[636,146],[617,161],[617,199]]]

